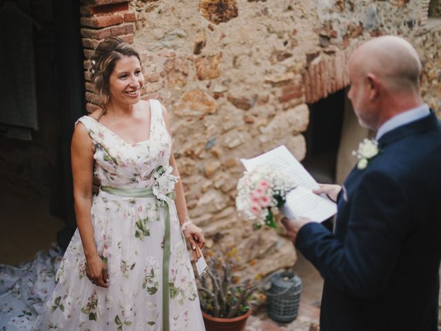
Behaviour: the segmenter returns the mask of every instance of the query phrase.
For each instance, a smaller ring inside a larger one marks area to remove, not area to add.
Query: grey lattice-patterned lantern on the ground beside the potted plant
[[[294,321],[298,315],[302,280],[294,272],[277,272],[269,279],[268,316],[276,322]]]

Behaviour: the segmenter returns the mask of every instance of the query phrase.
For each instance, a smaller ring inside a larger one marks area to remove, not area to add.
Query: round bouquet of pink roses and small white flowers
[[[271,208],[282,208],[294,181],[268,166],[245,172],[237,184],[236,208],[241,216],[254,221],[256,228],[266,224],[277,228]]]

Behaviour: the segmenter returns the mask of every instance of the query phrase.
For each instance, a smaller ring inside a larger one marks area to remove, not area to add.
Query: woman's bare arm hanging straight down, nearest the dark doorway
[[[74,181],[74,208],[76,225],[86,259],[86,274],[96,285],[107,286],[104,275],[105,265],[96,250],[94,228],[90,210],[92,208],[92,179],[94,167],[93,144],[88,131],[78,123],[72,136],[71,160]]]

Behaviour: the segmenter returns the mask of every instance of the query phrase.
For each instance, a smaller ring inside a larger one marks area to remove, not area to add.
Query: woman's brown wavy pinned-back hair
[[[91,80],[94,85],[95,94],[99,97],[99,100],[96,100],[96,102],[103,109],[101,116],[105,113],[105,107],[109,102],[110,74],[112,74],[115,68],[116,61],[119,61],[124,56],[137,57],[141,64],[141,57],[132,46],[118,37],[110,37],[96,46],[95,52],[90,59]]]

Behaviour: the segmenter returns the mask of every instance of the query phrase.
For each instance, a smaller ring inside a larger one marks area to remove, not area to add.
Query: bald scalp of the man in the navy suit
[[[400,37],[367,41],[353,53],[350,66],[362,75],[375,74],[393,92],[420,88],[420,58],[415,48]]]

